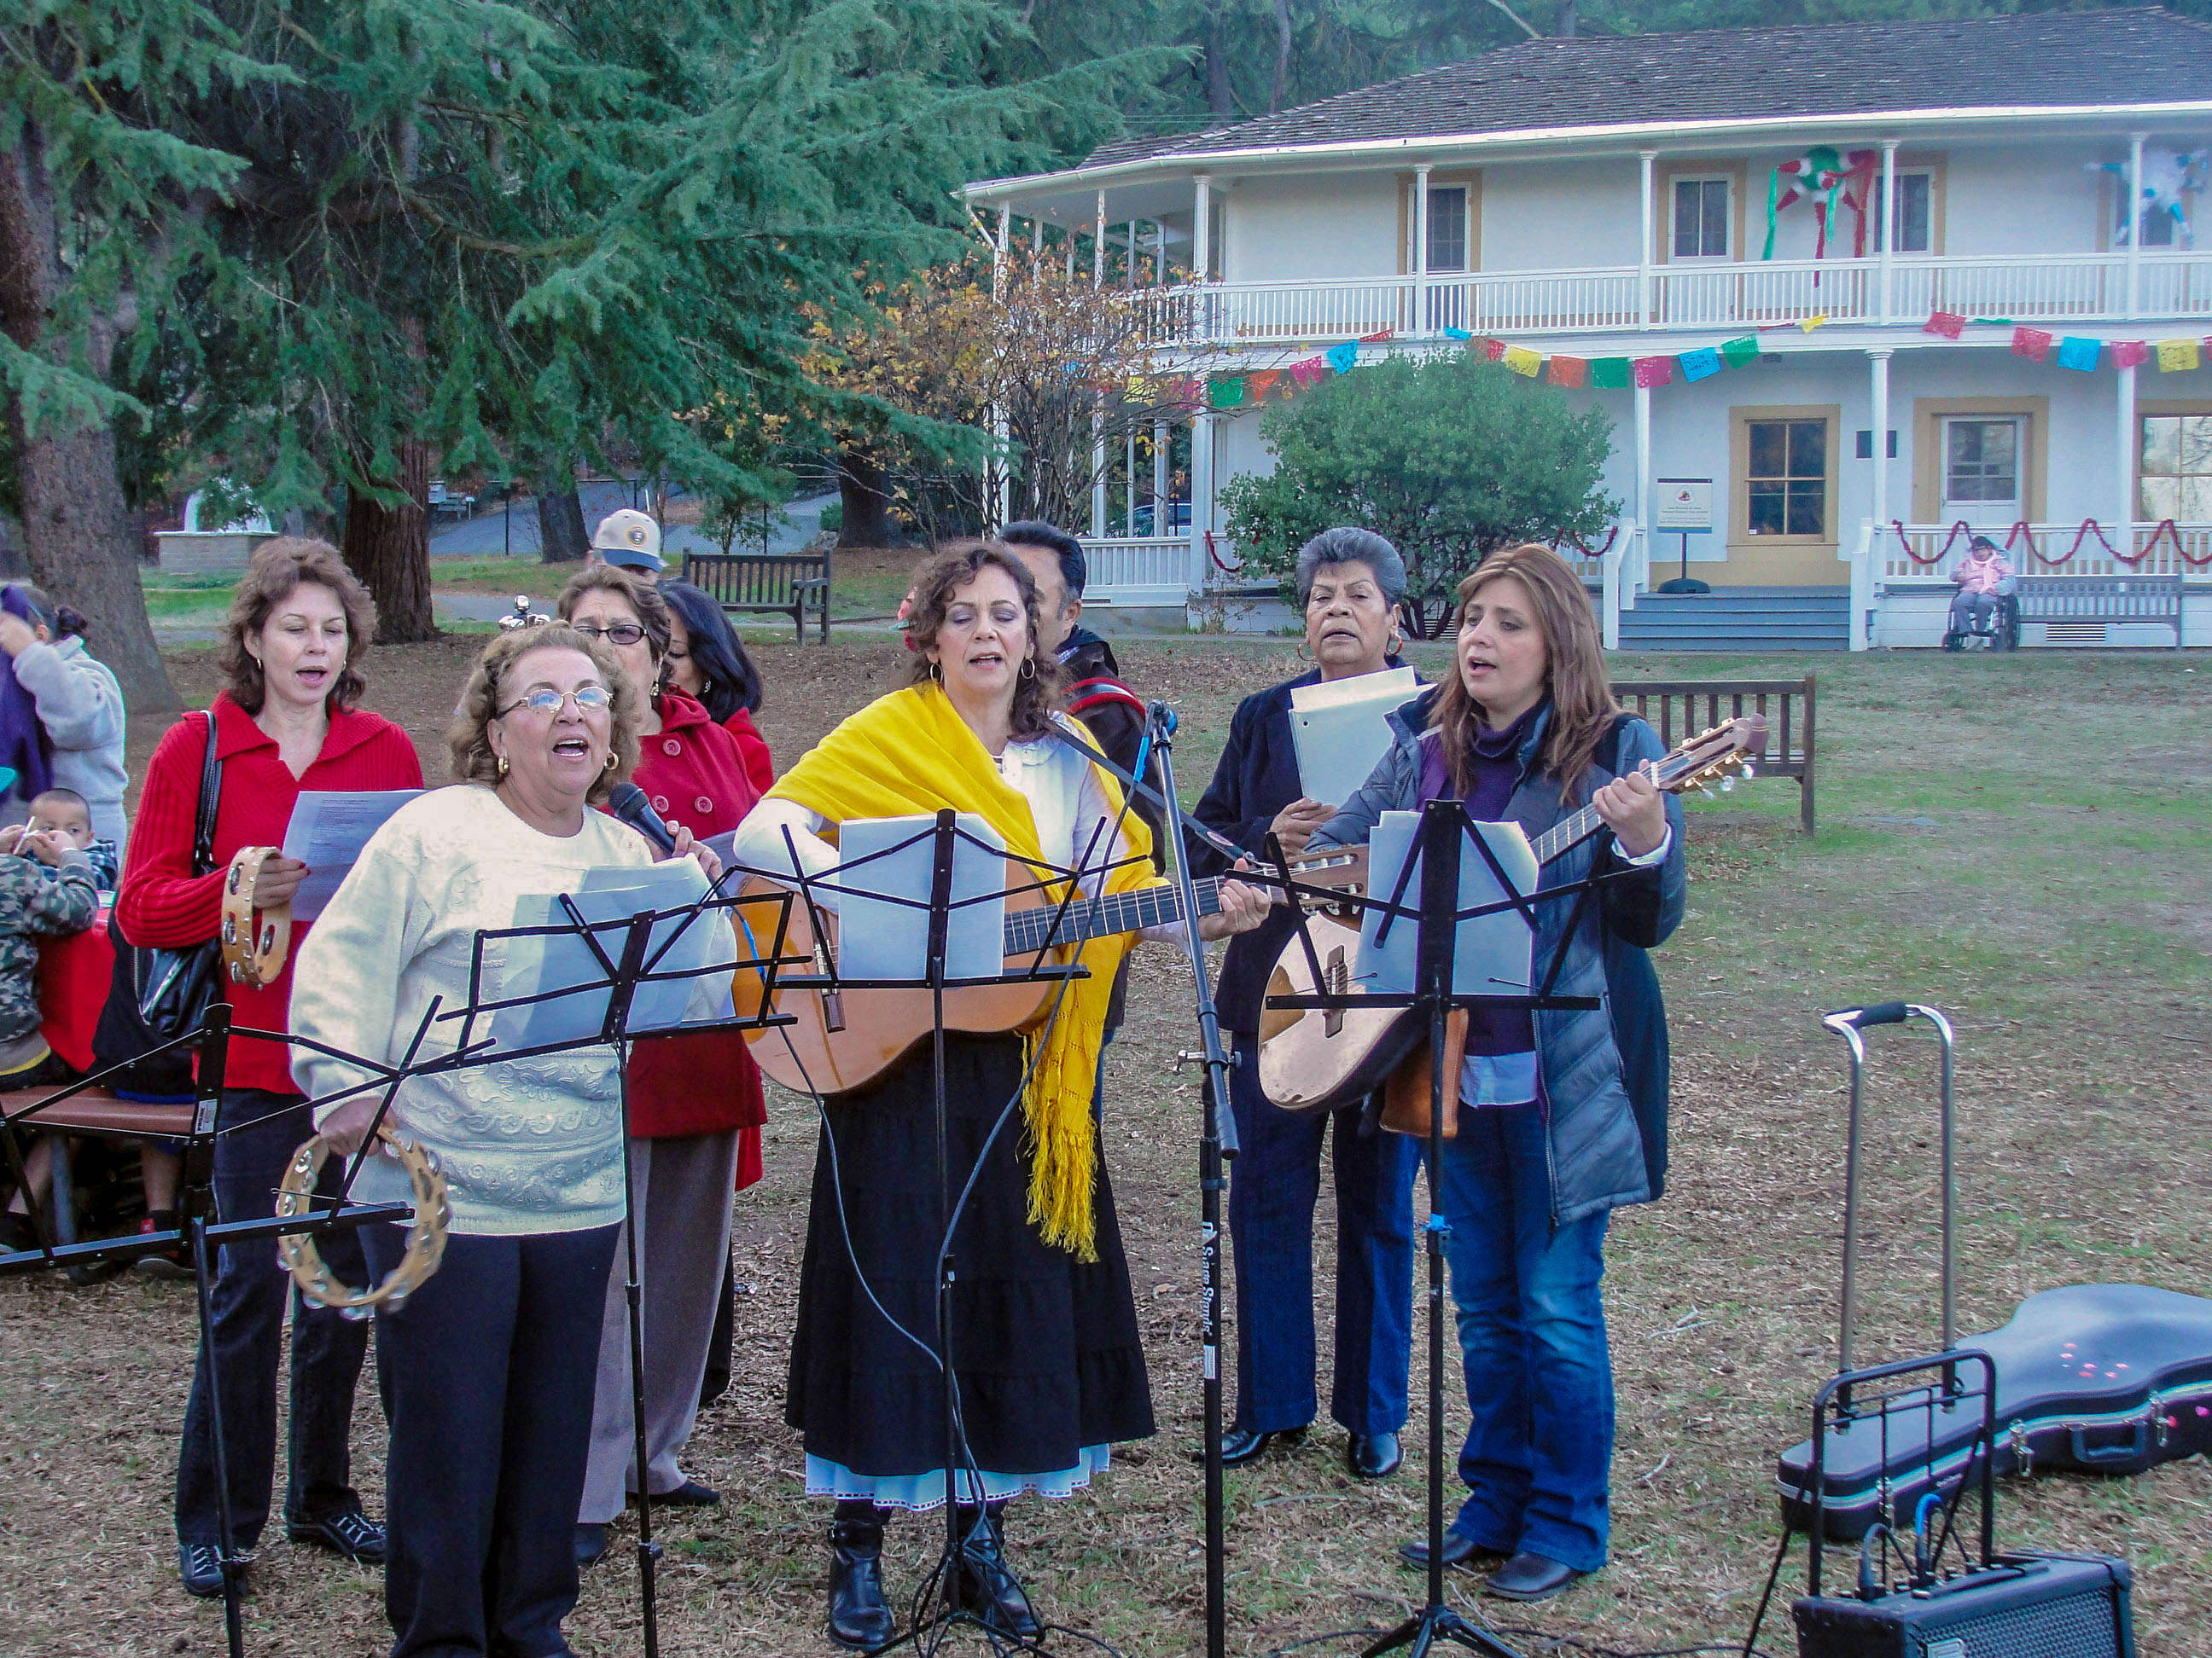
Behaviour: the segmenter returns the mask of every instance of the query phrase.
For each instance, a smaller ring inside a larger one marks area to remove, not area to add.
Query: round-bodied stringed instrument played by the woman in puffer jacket
[[[1752,754],[1765,754],[1765,714],[1739,714],[1710,732],[1699,732],[1650,765],[1650,780],[1666,794],[1703,791],[1710,783],[1732,787],[1752,774]],[[1597,807],[1584,807],[1531,842],[1537,864],[1548,864],[1604,829]],[[1267,975],[1267,995],[1360,995],[1360,913],[1314,909],[1314,955],[1321,984],[1303,940],[1290,940]],[[1259,1017],[1259,1088],[1287,1112],[1318,1112],[1374,1092],[1420,1046],[1425,1021],[1413,1008],[1267,1008]],[[1427,1094],[1422,1094],[1422,1101]]]

